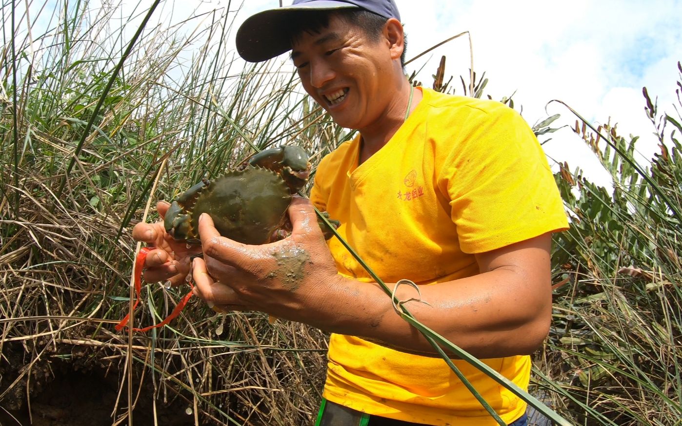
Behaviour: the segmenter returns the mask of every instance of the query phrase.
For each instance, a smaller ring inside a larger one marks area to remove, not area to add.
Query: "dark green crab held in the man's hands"
[[[183,192],[170,204],[164,228],[177,241],[198,244],[198,218],[209,213],[223,237],[254,245],[277,241],[291,232],[286,210],[309,175],[308,154],[301,147],[266,149],[216,181],[202,179]],[[331,237],[327,226],[321,228],[327,230],[325,238]]]

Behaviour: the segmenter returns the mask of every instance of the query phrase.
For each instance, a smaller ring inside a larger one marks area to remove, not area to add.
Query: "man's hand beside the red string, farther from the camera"
[[[152,249],[143,266],[145,281],[170,282],[171,286],[179,286],[190,273],[190,256],[200,254],[201,246],[188,249],[185,241],[175,241],[170,237],[163,222],[168,207],[168,202],[158,202],[156,210],[162,219],[153,224],[136,224],[132,228],[132,237],[147,243],[147,247]]]

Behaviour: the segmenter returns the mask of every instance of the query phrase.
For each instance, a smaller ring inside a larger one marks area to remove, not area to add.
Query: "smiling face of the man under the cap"
[[[387,113],[394,63],[383,35],[372,40],[331,15],[329,27],[298,37],[291,59],[303,88],[338,125],[362,130]]]

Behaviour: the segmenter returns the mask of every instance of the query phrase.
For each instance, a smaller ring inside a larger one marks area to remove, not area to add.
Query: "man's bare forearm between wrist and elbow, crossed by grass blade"
[[[389,288],[393,286],[389,284]],[[306,322],[406,352],[436,352],[421,333],[398,316],[391,298],[378,285],[342,279],[335,289],[335,294],[327,295],[329,308],[316,313],[316,320]],[[516,271],[497,269],[420,286],[420,290],[421,301],[428,305],[409,301],[404,306],[417,320],[478,358],[528,354],[546,337],[551,310],[549,286],[545,292],[537,291],[536,285]],[[419,299],[410,286],[400,286],[396,295],[401,301]]]

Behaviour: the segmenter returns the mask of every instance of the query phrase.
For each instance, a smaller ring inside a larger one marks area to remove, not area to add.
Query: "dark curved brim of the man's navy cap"
[[[241,24],[237,30],[237,52],[249,62],[267,61],[291,49],[286,24],[293,15],[311,10],[359,8],[344,1],[318,0],[265,10]]]

